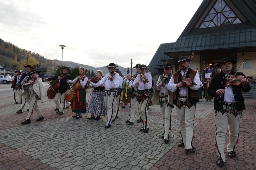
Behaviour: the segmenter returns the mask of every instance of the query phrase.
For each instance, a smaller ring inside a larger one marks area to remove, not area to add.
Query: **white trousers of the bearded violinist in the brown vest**
[[[182,142],[185,145],[185,149],[194,148],[192,141],[194,137],[196,103],[188,105],[186,98],[179,98],[177,107],[178,108],[176,108],[176,110],[179,119]]]

